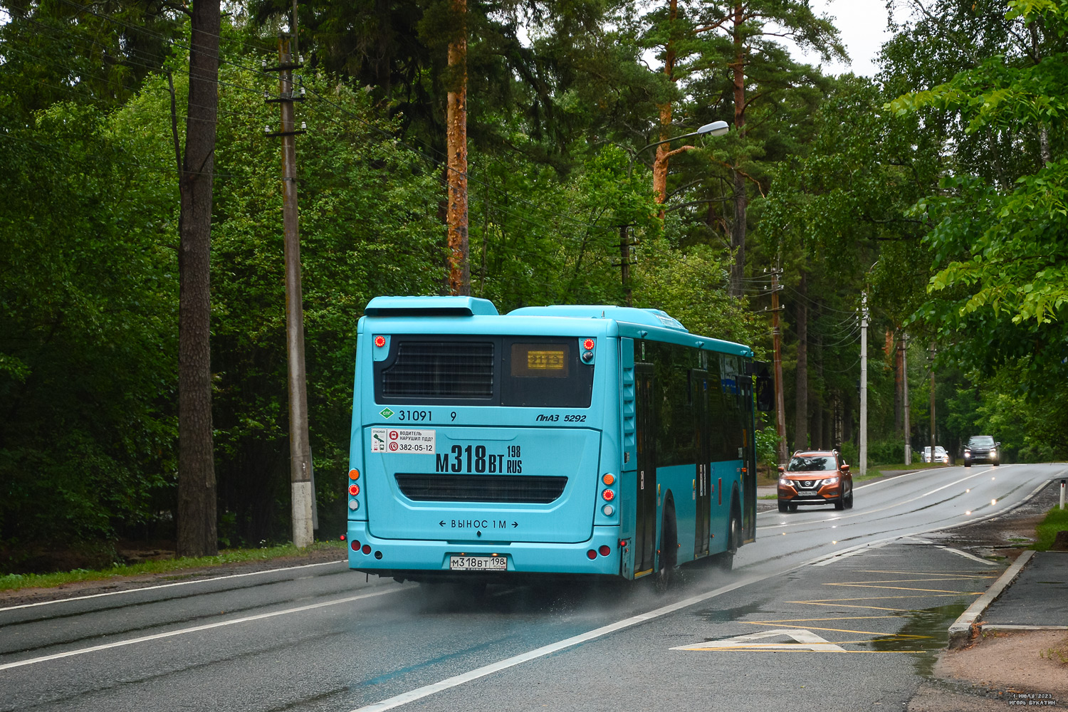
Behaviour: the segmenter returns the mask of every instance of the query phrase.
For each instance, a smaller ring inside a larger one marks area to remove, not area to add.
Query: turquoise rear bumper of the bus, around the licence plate
[[[578,543],[451,542],[438,540],[379,539],[367,533],[366,522],[348,523],[348,567],[360,571],[409,580],[466,577],[478,571],[453,571],[453,556],[504,556],[507,571],[488,574],[534,573],[574,575],[619,575],[623,547],[618,526],[594,526],[593,536]],[[359,542],[359,548],[354,545]],[[607,549],[604,549],[607,547]],[[607,552],[602,554],[601,552]],[[593,558],[591,558],[593,552]]]

